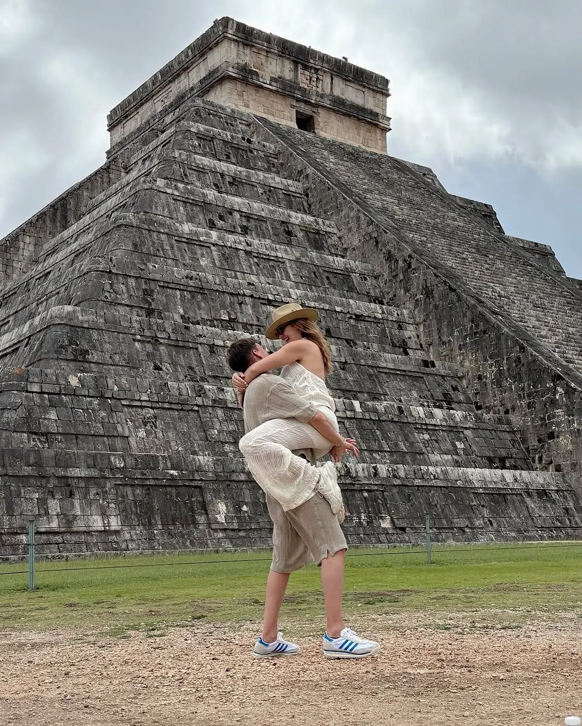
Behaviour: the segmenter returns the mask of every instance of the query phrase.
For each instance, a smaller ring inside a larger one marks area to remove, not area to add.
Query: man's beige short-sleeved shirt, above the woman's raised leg
[[[258,375],[249,383],[242,411],[246,433],[274,418],[296,418],[309,423],[317,413],[316,407],[286,380],[270,373]]]

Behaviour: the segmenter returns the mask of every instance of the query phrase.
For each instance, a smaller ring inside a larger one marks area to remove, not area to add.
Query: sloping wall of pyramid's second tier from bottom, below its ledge
[[[165,396],[152,396],[165,398]],[[5,446],[27,449],[75,447],[79,451],[179,452],[200,455],[226,452],[239,456],[244,433],[242,414],[234,405],[218,406],[213,399],[192,397],[188,402],[89,397],[69,393],[20,396],[22,405],[3,412]],[[17,397],[0,393],[0,405]],[[340,401],[341,403],[341,401]],[[340,431],[356,439],[366,460],[378,463],[492,466],[530,469],[515,433],[488,422],[425,423],[421,419],[370,418],[366,412],[347,417],[338,410]],[[177,431],[168,433],[171,427]],[[199,426],[197,434],[192,427]]]

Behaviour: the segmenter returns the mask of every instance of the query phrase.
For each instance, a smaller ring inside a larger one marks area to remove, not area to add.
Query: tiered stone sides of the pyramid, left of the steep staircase
[[[197,101],[120,154],[126,175],[0,293],[1,553],[22,555],[30,515],[44,552],[268,546],[224,354],[290,300],[321,313],[363,449],[341,477],[353,544],[418,541],[425,512],[459,541],[580,524],[570,484],[431,358],[252,118]]]

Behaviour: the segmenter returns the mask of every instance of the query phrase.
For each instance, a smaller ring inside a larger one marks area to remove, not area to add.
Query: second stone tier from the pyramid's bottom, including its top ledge
[[[32,369],[1,384],[5,446],[239,456],[242,413],[231,386],[52,374]],[[379,463],[531,466],[507,417],[348,399],[337,400],[337,417]]]

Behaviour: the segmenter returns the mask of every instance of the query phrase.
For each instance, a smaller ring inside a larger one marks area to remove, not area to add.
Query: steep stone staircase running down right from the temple
[[[563,273],[524,250],[522,240],[478,220],[456,197],[402,160],[289,126],[261,123],[357,190],[393,229],[582,372],[582,292]]]

